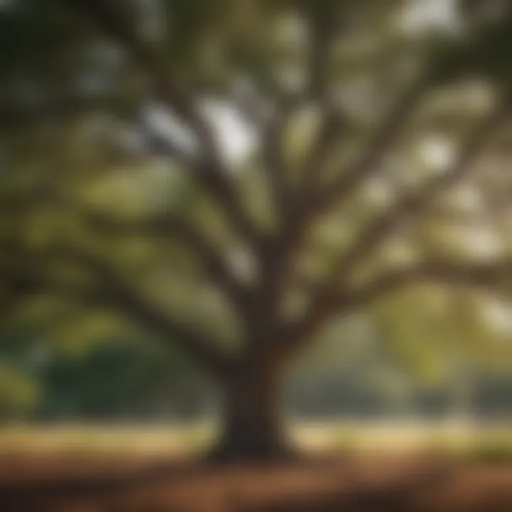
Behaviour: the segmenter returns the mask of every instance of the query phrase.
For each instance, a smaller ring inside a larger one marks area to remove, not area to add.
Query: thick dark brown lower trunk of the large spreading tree
[[[265,462],[291,454],[282,422],[279,372],[264,365],[241,368],[226,380],[217,461]]]

